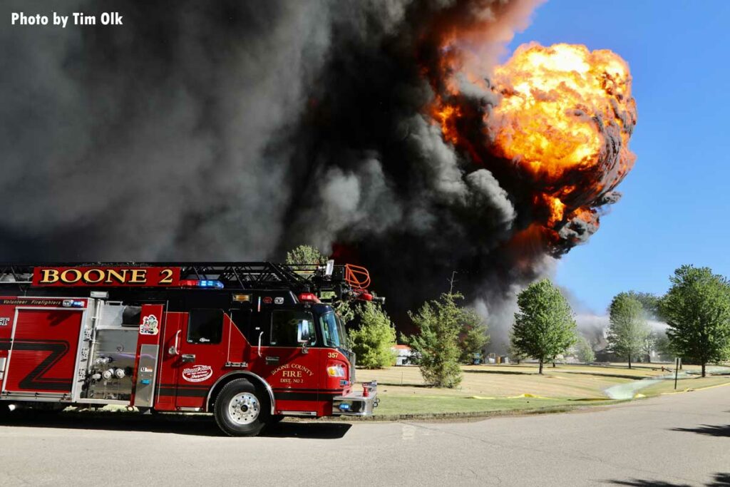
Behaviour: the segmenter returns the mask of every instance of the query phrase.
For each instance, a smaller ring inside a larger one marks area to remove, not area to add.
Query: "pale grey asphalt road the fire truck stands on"
[[[0,485],[730,486],[730,387],[461,423],[289,423],[255,438],[117,413],[10,418]]]

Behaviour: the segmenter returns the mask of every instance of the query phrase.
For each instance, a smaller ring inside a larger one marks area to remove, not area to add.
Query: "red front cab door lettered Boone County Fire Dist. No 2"
[[[277,410],[317,410],[321,349],[311,310],[281,307],[262,312],[259,318],[251,361],[272,386]],[[307,340],[304,347],[300,340]]]

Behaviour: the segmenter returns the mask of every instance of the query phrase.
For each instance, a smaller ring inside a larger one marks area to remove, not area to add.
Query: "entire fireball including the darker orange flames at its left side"
[[[458,70],[453,59],[449,66]],[[509,161],[520,191],[529,186],[532,223],[553,242],[585,239],[599,225],[595,208],[618,200],[613,189],[634,165],[629,137],[637,114],[626,61],[583,45],[529,44],[485,77],[498,101],[482,112],[479,140],[464,120],[475,112],[465,109],[469,97],[453,80],[442,83],[449,88],[437,96],[431,117],[445,142],[491,170],[499,164],[495,156]]]

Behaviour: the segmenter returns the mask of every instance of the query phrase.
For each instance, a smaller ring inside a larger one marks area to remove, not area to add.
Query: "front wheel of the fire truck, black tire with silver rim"
[[[216,396],[213,415],[228,436],[253,437],[270,421],[271,405],[265,391],[246,379],[235,379]]]

